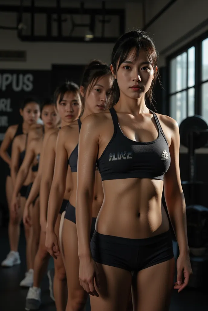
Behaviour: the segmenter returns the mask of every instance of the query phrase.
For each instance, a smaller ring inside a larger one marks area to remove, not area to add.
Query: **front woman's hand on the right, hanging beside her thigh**
[[[192,268],[189,254],[180,254],[177,259],[177,282],[174,286],[174,289],[177,289],[178,293],[188,285],[191,274]]]

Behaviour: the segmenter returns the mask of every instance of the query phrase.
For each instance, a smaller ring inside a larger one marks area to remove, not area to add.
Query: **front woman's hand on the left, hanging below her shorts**
[[[99,296],[94,286],[94,280],[100,288],[99,272],[96,262],[91,257],[80,258],[80,285],[92,296]]]

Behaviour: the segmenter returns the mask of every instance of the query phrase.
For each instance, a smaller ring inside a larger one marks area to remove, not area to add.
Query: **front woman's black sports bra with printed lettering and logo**
[[[149,178],[163,180],[170,166],[168,142],[157,115],[158,137],[152,142],[135,142],[124,135],[114,108],[109,109],[114,124],[114,134],[106,146],[97,166],[102,180],[124,178]]]

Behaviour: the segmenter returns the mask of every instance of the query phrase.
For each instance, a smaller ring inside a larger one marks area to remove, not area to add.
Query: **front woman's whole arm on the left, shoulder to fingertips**
[[[99,118],[89,115],[82,123],[79,136],[76,226],[78,255],[80,258],[80,285],[89,294],[96,294],[94,278],[99,287],[98,270],[90,252],[90,228],[95,182],[95,167],[98,156]]]

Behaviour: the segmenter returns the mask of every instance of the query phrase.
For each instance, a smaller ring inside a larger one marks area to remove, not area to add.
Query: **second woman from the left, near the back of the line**
[[[36,172],[34,172],[34,165],[37,165],[37,157],[40,156],[42,143],[43,143],[43,136],[44,133],[46,133],[51,128],[56,128],[57,124],[59,122],[59,116],[57,115],[54,107],[54,103],[51,100],[46,100],[42,106],[41,106],[41,119],[44,124],[43,132],[40,137],[33,138],[29,145],[27,146],[27,150],[25,153],[24,160],[22,162],[22,165],[19,168],[18,174],[16,176],[14,191],[12,195],[12,201],[11,201],[11,208],[18,212],[18,209],[20,208],[18,206],[18,193],[20,189],[22,188],[25,180],[27,179],[28,174],[31,172],[31,168],[33,171],[31,183],[26,187],[26,195],[27,198],[29,195],[29,191],[31,189],[31,185],[36,177]],[[34,202],[35,203],[35,202]],[[31,206],[31,212],[34,211],[33,217],[32,217],[32,226],[30,228],[30,234],[28,238],[28,245],[27,245],[27,266],[28,266],[28,272],[26,273],[26,276],[23,281],[21,281],[20,286],[26,286],[30,287],[33,284],[33,266],[34,266],[34,259],[37,252],[37,240],[39,239],[39,219],[35,217],[38,213],[39,209],[39,200],[37,201],[35,208],[32,208]],[[24,211],[25,213],[25,211]],[[25,228],[29,228],[27,224],[25,224]]]

